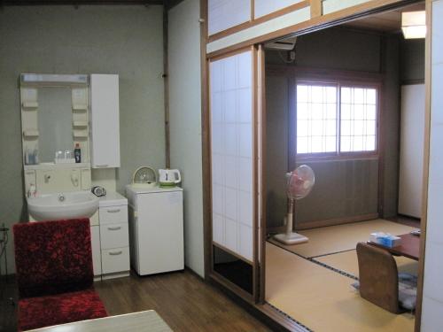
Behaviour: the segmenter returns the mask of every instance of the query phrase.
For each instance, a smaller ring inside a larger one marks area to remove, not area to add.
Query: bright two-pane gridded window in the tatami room
[[[377,152],[377,87],[339,81],[297,83],[297,155]]]

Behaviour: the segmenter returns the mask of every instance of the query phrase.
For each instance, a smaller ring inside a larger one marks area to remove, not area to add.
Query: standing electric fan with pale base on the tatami
[[[288,177],[286,193],[289,198],[288,216],[286,218],[286,233],[277,234],[274,238],[284,244],[305,243],[307,237],[292,232],[294,202],[296,199],[307,197],[314,187],[315,174],[311,167],[302,165],[297,167],[291,173],[286,174]]]

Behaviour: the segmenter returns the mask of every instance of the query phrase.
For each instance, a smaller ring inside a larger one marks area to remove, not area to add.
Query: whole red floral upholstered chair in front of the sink
[[[106,317],[93,289],[89,220],[13,227],[19,330]]]

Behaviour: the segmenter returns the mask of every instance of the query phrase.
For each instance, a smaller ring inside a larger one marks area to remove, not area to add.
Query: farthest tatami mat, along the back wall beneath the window
[[[330,253],[353,250],[357,243],[368,241],[369,234],[373,232],[400,235],[408,233],[413,229],[415,228],[388,220],[377,219],[299,231],[300,234],[309,238],[308,243],[284,245],[273,239],[269,241],[305,258],[313,258]]]

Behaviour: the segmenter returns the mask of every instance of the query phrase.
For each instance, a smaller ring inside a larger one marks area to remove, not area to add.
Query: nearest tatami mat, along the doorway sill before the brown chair
[[[266,246],[266,300],[316,332],[412,332],[414,316],[396,315],[362,299],[352,279]]]

